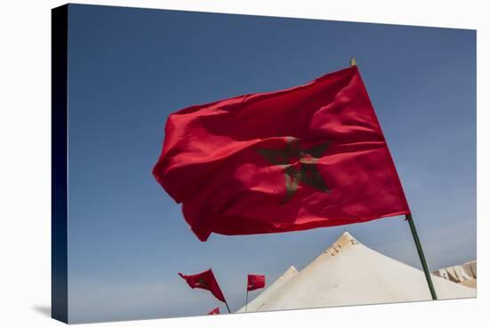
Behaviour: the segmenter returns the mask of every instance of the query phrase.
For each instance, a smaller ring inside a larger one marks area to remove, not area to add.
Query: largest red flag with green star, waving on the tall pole
[[[356,66],[172,114],[153,174],[201,241],[410,212]]]

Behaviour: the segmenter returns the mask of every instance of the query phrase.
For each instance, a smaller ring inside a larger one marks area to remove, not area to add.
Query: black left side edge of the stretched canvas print
[[[51,28],[51,316],[68,323],[68,4]]]

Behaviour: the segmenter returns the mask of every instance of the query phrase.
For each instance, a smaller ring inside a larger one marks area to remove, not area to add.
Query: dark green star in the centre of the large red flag
[[[300,140],[292,137],[285,138],[285,142],[286,145],[283,149],[257,149],[257,152],[265,157],[270,164],[284,168],[286,194],[280,204],[289,201],[301,183],[315,187],[322,192],[329,192],[325,180],[316,167],[328,145],[323,143],[312,148],[301,148]],[[296,168],[294,165],[298,167]]]

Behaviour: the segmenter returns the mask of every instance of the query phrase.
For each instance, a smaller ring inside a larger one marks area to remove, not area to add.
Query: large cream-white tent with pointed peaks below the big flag
[[[476,291],[432,275],[438,299]],[[247,311],[336,307],[431,299],[424,273],[367,248],[345,232],[300,272],[284,275],[248,303]],[[237,312],[244,312],[245,307]]]

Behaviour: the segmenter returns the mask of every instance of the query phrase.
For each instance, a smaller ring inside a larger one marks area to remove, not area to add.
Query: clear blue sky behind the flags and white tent
[[[330,227],[201,243],[151,169],[173,111],[305,84],[351,56],[429,267],[476,258],[475,31],[86,5],[70,5],[68,27],[71,322],[204,315],[220,302],[177,273],[208,267],[236,310],[248,273],[271,283],[341,235]],[[421,267],[402,217],[348,230]]]

